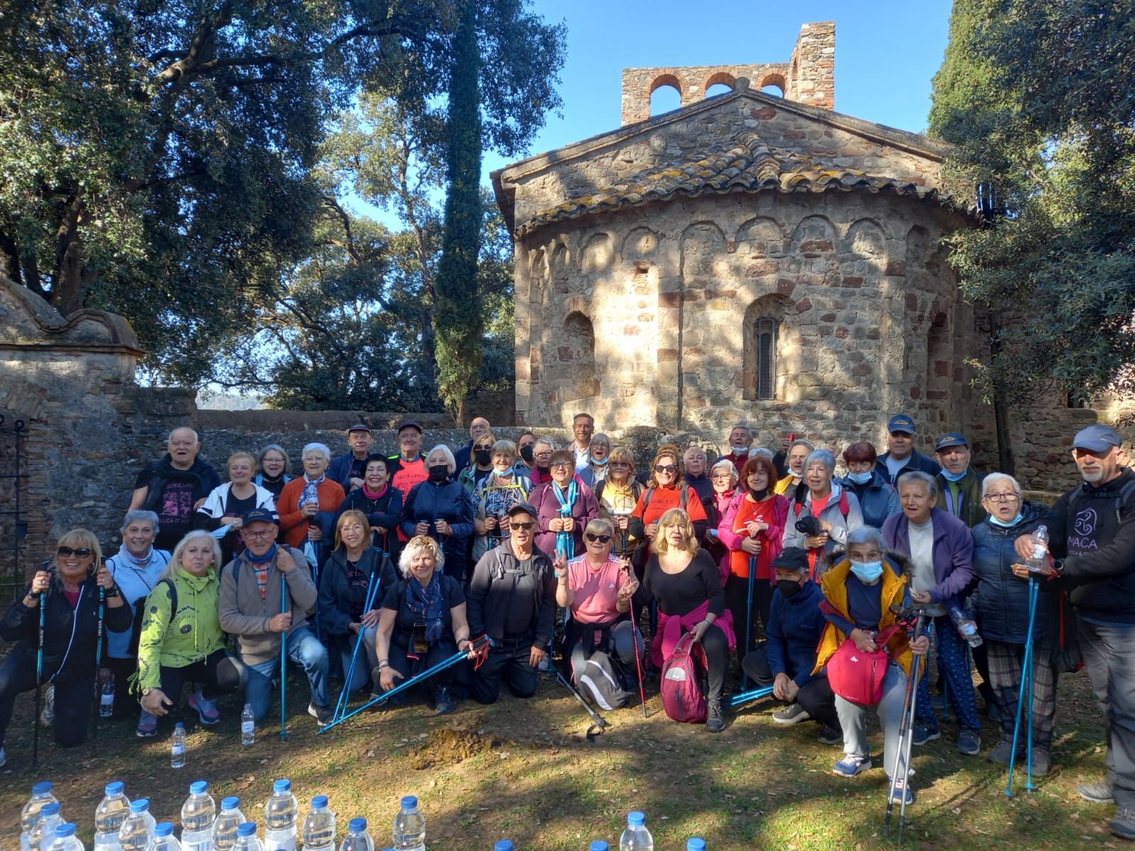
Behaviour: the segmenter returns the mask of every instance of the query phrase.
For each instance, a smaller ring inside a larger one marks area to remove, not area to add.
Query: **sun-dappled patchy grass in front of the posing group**
[[[35,780],[51,780],[62,814],[75,820],[86,848],[94,808],[106,783],[120,780],[131,798],[149,797],[161,820],[179,819],[188,784],[209,781],[218,800],[239,795],[251,820],[263,823],[271,782],[289,777],[301,814],[312,795],[329,795],[346,821],[365,816],[378,848],[403,794],[417,794],[430,849],[491,849],[512,839],[518,850],[587,849],[591,840],[617,845],[625,815],[641,809],[659,850],[681,851],[701,836],[718,849],[847,849],[893,846],[883,839],[885,776],[880,767],[855,780],[832,774],[840,748],[816,742],[817,727],[782,728],[771,701],[750,703],[724,733],[671,722],[657,694],[648,693],[649,717],[638,706],[606,713],[611,726],[590,743],[589,719],[554,681],[531,700],[502,698],[491,707],[471,701],[449,716],[434,716],[413,698],[409,705],[363,713],[325,735],[302,714],[306,683],[288,681],[289,734],[280,743],[277,723],[258,730],[254,745],[239,742],[239,710],[222,702],[222,722],[204,728],[184,705],[188,728],[184,769],[169,767],[169,731],[140,740],[132,723],[103,725],[95,745],[60,750],[50,731],[41,735],[41,760],[31,769],[31,696],[17,701],[8,731],[8,765],[0,769],[0,848],[18,848],[19,809]],[[358,706],[360,700],[355,700]],[[278,710],[278,706],[277,706]],[[953,747],[955,725],[915,749],[917,794],[908,808],[905,846],[950,849],[1100,849],[1125,843],[1111,836],[1111,806],[1091,806],[1075,794],[1081,781],[1103,777],[1103,725],[1083,672],[1060,685],[1057,742],[1048,777],[1033,794],[1003,794],[1006,772],[985,760],[997,741],[986,725],[981,757]],[[191,719],[192,718],[192,719]],[[876,732],[873,748],[882,750]],[[1019,780],[1017,780],[1019,778]],[[1015,790],[1024,785],[1024,773]],[[896,819],[898,807],[896,807]]]

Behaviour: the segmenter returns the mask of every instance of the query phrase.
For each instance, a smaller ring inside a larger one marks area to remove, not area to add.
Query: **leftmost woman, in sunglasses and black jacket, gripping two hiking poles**
[[[83,742],[90,726],[94,696],[95,648],[99,635],[99,589],[102,589],[103,626],[123,632],[131,626],[131,609],[102,563],[93,532],[74,529],[59,539],[51,561],[36,571],[0,621],[0,638],[16,646],[0,665],[0,765],[3,738],[12,705],[20,692],[36,688],[40,606],[43,606],[43,667],[41,683],[56,686],[54,736],[64,748]],[[39,718],[35,719],[39,723]]]

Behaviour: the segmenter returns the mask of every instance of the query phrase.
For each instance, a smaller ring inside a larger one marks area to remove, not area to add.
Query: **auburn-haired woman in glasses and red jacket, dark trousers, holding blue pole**
[[[732,466],[732,464],[730,464]],[[764,453],[753,453],[741,467],[745,496],[738,499],[717,524],[717,537],[729,550],[725,605],[734,629],[757,640],[757,617],[768,629],[776,572],[771,567],[780,555],[788,519],[788,499],[773,492],[776,466]],[[749,599],[749,571],[753,571],[753,599]],[[751,647],[746,647],[745,657]]]

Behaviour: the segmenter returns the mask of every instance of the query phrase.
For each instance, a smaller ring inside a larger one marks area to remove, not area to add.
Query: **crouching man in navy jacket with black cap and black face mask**
[[[746,654],[741,667],[757,685],[772,685],[773,697],[788,703],[773,713],[773,721],[798,724],[813,718],[821,724],[821,742],[842,744],[843,732],[827,674],[812,673],[825,621],[819,610],[824,595],[808,579],[808,554],[799,547],[785,547],[772,566],[777,593],[768,610],[765,648]]]

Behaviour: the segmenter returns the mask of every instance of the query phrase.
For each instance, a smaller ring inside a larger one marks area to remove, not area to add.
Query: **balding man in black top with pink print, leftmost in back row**
[[[158,515],[158,549],[173,551],[193,525],[193,515],[220,477],[208,461],[197,457],[201,438],[191,428],[174,429],[166,444],[166,456],[145,466],[134,482],[134,496],[127,511],[149,511]]]

